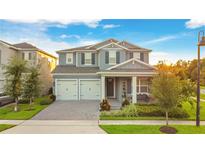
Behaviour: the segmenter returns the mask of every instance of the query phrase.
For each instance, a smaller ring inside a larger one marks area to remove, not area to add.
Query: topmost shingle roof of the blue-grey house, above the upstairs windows
[[[116,43],[122,47],[127,48],[128,50],[140,50],[140,51],[151,51],[150,49],[142,48],[138,45],[134,45],[132,43],[128,43],[127,41],[118,41],[116,39],[108,39],[103,42],[99,42],[93,45],[87,45],[87,46],[81,46],[81,47],[76,47],[76,48],[70,48],[70,49],[64,49],[64,50],[59,50],[57,52],[66,52],[66,51],[76,51],[76,50],[84,50],[84,51],[89,51],[89,50],[97,50],[100,47],[103,47],[107,44],[110,43]]]

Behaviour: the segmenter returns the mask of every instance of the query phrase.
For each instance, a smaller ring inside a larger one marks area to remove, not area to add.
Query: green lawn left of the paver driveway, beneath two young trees
[[[47,97],[47,96],[45,96]],[[0,119],[1,120],[27,120],[32,118],[41,110],[45,109],[48,105],[40,105],[40,101],[45,98],[35,99],[32,109],[29,110],[29,104],[19,104],[19,111],[14,112],[14,104],[0,108]]]

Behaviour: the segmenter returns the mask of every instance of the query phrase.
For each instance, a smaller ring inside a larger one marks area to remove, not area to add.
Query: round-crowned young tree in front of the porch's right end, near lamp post
[[[181,101],[182,88],[179,78],[170,71],[159,71],[152,80],[151,92],[165,112],[166,125],[168,125],[169,112]]]

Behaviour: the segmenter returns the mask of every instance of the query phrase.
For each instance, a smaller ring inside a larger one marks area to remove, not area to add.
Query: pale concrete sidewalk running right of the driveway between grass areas
[[[100,125],[165,125],[165,120],[100,120]],[[170,125],[195,125],[195,121],[169,120]],[[205,125],[205,121],[200,122]]]

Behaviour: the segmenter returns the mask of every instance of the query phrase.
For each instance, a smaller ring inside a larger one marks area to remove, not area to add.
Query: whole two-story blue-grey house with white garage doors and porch
[[[57,100],[122,101],[126,94],[136,103],[139,94],[149,94],[156,74],[150,51],[115,39],[57,51],[59,65],[52,72]]]

